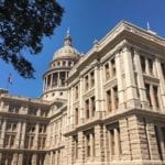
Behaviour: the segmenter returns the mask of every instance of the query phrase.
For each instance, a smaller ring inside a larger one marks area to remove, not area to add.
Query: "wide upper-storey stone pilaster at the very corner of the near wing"
[[[127,107],[135,108],[136,107],[136,87],[134,79],[134,70],[132,64],[132,55],[130,47],[124,47],[122,52],[124,74],[125,74],[125,95],[127,95]]]

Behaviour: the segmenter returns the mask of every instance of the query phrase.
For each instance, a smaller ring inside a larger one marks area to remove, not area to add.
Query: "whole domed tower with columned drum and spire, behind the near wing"
[[[50,63],[48,70],[44,74],[43,96],[45,100],[54,100],[55,98],[67,98],[67,77],[72,67],[80,58],[76,48],[73,47],[69,31],[64,38],[64,46],[57,50]]]

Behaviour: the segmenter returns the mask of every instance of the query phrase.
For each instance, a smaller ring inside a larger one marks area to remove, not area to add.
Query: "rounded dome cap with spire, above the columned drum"
[[[79,57],[78,51],[76,48],[74,48],[72,45],[72,37],[68,32],[64,40],[64,46],[54,53],[53,59],[65,58],[65,57],[67,57],[67,58],[78,58]]]

